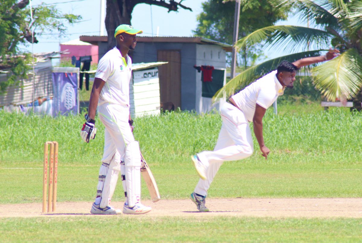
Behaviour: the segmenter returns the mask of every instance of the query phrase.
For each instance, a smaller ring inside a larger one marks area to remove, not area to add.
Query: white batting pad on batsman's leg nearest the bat
[[[141,153],[138,141],[126,146],[125,169],[128,206],[132,208],[141,197]]]

